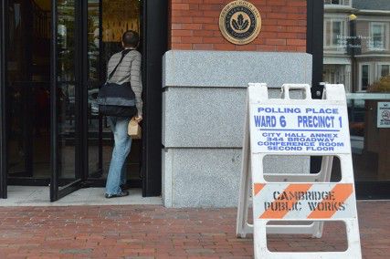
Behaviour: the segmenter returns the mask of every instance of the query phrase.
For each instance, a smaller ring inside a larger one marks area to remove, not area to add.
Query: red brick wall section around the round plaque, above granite
[[[171,49],[306,52],[307,0],[249,0],[262,28],[248,45],[229,43],[219,31],[221,10],[232,0],[171,0]]]

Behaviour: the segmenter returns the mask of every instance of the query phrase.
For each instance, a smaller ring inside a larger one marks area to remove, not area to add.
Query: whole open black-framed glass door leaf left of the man
[[[50,200],[81,187],[82,176],[82,1],[53,0],[51,12],[51,171]]]

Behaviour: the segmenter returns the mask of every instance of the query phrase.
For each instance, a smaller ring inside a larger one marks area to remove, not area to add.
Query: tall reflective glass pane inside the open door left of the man
[[[76,176],[75,1],[58,1],[58,175],[65,186]]]

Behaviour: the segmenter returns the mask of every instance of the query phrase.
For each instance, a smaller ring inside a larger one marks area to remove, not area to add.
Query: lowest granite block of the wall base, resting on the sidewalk
[[[163,204],[174,208],[237,207],[241,149],[163,150]],[[307,157],[266,157],[266,173],[308,173]]]

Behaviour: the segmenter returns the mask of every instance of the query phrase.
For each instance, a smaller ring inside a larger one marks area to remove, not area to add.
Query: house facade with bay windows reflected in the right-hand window
[[[390,2],[325,1],[323,80],[362,92],[390,74]]]

